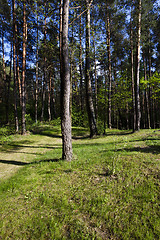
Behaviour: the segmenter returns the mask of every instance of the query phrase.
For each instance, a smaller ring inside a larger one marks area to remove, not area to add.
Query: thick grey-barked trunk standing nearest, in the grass
[[[63,0],[62,14],[62,56],[61,69],[61,130],[62,130],[62,159],[72,160],[72,133],[70,117],[70,69],[68,57],[68,16],[69,0]]]

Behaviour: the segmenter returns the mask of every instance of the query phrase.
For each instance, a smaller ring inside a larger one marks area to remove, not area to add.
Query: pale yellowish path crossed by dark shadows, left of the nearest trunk
[[[40,135],[16,136],[14,142],[0,145],[0,181],[11,177],[19,168],[40,158],[61,144],[60,138]]]

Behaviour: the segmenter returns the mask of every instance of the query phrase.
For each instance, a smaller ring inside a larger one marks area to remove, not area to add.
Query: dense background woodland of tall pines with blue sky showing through
[[[54,0],[0,1],[0,124],[14,125],[17,132],[25,133],[33,122],[60,122],[61,6],[62,1]],[[73,126],[90,124],[90,94],[99,133],[106,127],[160,127],[159,7],[158,0],[70,1]]]

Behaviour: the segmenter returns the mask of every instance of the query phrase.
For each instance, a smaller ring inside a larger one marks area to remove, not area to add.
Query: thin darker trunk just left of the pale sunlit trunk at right
[[[132,78],[132,108],[133,108],[133,132],[136,130],[136,105],[135,105],[135,84],[134,84],[134,57],[133,57],[133,28],[132,28],[132,9],[131,9],[131,32],[130,32],[130,44],[131,44],[131,78]]]

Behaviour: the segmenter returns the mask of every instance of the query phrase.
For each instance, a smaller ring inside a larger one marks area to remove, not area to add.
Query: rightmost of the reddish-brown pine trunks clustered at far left
[[[26,42],[27,42],[27,21],[26,21],[26,0],[23,0],[23,59],[22,59],[22,135],[26,133]]]

